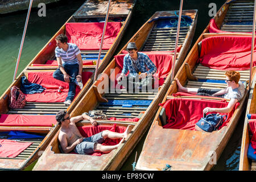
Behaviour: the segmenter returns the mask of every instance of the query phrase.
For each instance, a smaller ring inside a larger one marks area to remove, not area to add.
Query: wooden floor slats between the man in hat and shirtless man
[[[127,93],[125,89],[122,89],[115,90],[115,93],[105,94],[104,98],[108,100],[153,100],[155,95],[154,92]],[[122,107],[100,104],[96,110],[102,110],[108,118],[135,118],[139,117],[142,111],[146,111],[147,106]]]

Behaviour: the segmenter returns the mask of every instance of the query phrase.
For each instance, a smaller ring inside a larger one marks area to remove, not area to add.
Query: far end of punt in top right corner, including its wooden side
[[[254,1],[228,0],[208,24],[210,33],[252,32]]]

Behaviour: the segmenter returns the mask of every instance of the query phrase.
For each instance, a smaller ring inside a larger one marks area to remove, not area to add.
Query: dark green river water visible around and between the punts
[[[57,30],[66,22],[66,20],[82,5],[84,1],[66,1],[52,3],[46,6],[46,16],[39,17],[39,8],[34,8],[31,11],[28,22],[26,38],[24,40],[22,55],[17,75],[26,67],[26,65],[36,56],[36,54],[44,47],[49,39],[55,34]],[[201,35],[204,28],[209,23],[209,4],[215,3],[217,10],[224,4],[225,0],[184,0],[183,9],[197,9],[199,16],[197,19],[197,27],[192,45]],[[134,14],[131,22],[126,30],[117,51],[121,49],[125,43],[138,31],[138,29],[146,22],[155,11],[179,10],[180,1],[170,0],[137,0],[134,8]],[[23,28],[26,21],[27,11],[20,11],[7,15],[0,15],[0,94],[5,92],[13,81],[14,69],[16,59],[19,53],[20,41],[22,40]],[[192,46],[191,46],[192,47]],[[234,131],[231,139],[225,150],[222,152],[217,165],[213,170],[238,170],[240,158],[240,146],[242,137],[243,118],[245,114],[241,115],[241,119]],[[146,132],[147,134],[147,132]],[[142,150],[144,139],[143,136],[139,144],[134,148],[134,151],[126,160],[121,170],[132,170],[131,164],[135,159],[135,152],[138,156]],[[28,168],[32,169],[32,167]]]

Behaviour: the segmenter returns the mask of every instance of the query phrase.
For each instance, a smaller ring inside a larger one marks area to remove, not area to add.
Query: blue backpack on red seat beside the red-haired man
[[[228,118],[227,115],[220,115],[220,114],[208,114],[206,117],[201,118],[196,125],[200,127],[200,129],[207,131],[207,132],[212,132],[216,131],[218,127],[222,125],[226,121],[224,121],[224,117],[226,119]]]

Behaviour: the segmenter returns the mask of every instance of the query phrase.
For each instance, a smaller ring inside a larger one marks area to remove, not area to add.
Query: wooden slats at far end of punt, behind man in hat
[[[182,45],[187,33],[188,27],[180,27],[178,46]],[[156,24],[148,36],[142,51],[173,51],[175,49],[176,27],[156,28]]]

